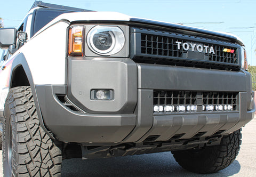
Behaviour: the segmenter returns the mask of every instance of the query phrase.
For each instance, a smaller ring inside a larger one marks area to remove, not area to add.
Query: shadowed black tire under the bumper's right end
[[[215,173],[234,162],[241,145],[241,130],[223,136],[220,145],[203,149],[173,151],[173,157],[183,168],[195,173]]]

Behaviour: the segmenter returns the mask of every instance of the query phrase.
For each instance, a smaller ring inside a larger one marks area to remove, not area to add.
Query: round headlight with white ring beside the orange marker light
[[[92,52],[112,55],[123,49],[125,37],[119,27],[95,26],[87,34],[86,42]]]

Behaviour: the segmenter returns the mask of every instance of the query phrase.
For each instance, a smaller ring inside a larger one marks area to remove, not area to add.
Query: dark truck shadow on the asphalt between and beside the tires
[[[213,174],[196,174],[183,170],[170,152],[104,159],[63,160],[61,176],[231,176],[239,173],[237,160]]]

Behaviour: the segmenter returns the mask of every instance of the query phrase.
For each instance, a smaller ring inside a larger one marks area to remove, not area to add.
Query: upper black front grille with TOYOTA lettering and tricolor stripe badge
[[[139,33],[131,40],[140,47],[134,52],[136,62],[224,70],[239,68],[239,46],[234,43],[143,28],[133,28],[133,31]],[[182,44],[188,48],[184,49]]]

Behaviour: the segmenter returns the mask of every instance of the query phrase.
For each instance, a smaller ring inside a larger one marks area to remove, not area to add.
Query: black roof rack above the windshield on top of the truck
[[[75,7],[63,6],[63,5],[57,5],[57,4],[50,4],[50,3],[43,3],[42,1],[35,1],[33,6],[31,7],[31,9],[33,9],[35,7],[44,7],[44,8],[48,8],[48,9],[69,10],[69,11],[75,11],[75,12],[93,12],[91,10],[79,9],[79,8],[75,8]]]

